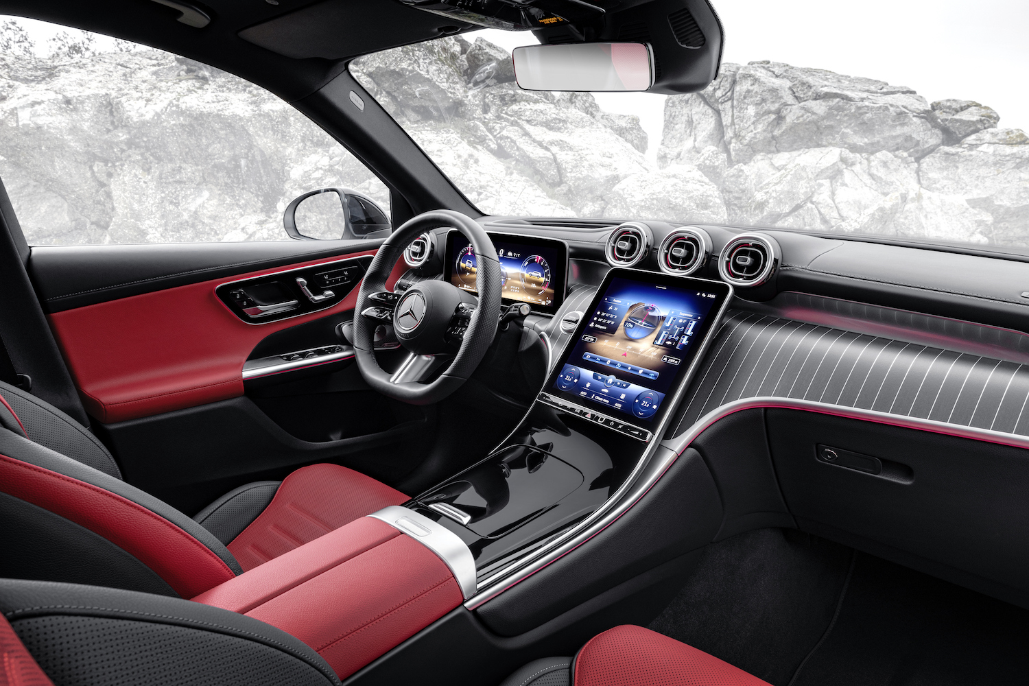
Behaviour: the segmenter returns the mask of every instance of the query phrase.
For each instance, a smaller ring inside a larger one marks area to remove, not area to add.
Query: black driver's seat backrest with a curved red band
[[[192,598],[242,574],[224,544],[190,517],[30,440],[32,425],[7,400],[0,403],[0,577]]]

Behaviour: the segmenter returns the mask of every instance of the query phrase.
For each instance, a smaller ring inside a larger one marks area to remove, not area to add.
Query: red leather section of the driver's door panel
[[[275,331],[353,309],[358,291],[355,286],[336,305],[318,313],[254,325],[240,321],[217,298],[219,284],[372,254],[248,272],[48,317],[86,411],[113,424],[243,395],[243,363],[257,342]],[[400,261],[389,283],[404,268]]]

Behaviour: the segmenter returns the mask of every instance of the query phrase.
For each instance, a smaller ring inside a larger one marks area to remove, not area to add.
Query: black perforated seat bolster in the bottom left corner
[[[340,684],[285,631],[190,601],[0,579],[0,612],[57,684]]]

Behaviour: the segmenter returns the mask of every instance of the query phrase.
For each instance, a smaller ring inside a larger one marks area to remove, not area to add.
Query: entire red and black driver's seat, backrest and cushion
[[[409,498],[331,464],[250,483],[196,517],[123,480],[84,427],[0,383],[0,577],[192,598]]]

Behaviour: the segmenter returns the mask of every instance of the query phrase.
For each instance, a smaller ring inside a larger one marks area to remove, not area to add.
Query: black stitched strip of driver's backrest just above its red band
[[[134,485],[126,483],[121,479],[114,478],[113,476],[84,465],[81,462],[65,457],[60,453],[55,453],[48,447],[43,447],[42,445],[23,438],[11,431],[7,431],[6,429],[0,429],[0,455],[5,455],[8,458],[21,460],[23,462],[36,465],[37,467],[42,467],[43,469],[48,469],[52,472],[70,476],[78,479],[79,481],[100,486],[105,491],[109,491],[127,500],[131,500],[137,505],[141,505],[150,510],[154,514],[168,519],[173,525],[182,529],[198,541],[206,545],[211,549],[211,551],[218,555],[218,557],[225,563],[225,565],[228,566],[228,569],[230,569],[234,574],[243,574],[243,568],[240,567],[236,557],[233,556],[233,553],[228,551],[228,548],[226,548],[221,541],[215,538],[214,534],[204,529],[199,523],[193,521],[192,518],[186,516],[182,512],[179,512],[168,503],[154,498],[144,491],[140,491]],[[0,484],[0,489],[2,489],[2,484]]]

